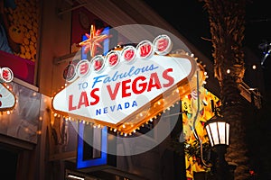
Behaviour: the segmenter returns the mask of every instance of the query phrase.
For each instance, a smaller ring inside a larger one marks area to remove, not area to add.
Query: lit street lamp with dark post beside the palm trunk
[[[220,115],[215,115],[206,121],[204,125],[210,145],[217,153],[216,161],[214,162],[215,179],[231,180],[233,173],[230,173],[229,164],[225,160],[225,153],[229,146],[229,122],[225,121]]]

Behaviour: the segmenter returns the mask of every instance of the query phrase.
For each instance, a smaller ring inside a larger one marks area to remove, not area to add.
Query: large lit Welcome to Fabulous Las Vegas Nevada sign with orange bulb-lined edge
[[[80,60],[73,82],[53,97],[54,112],[125,133],[134,131],[196,86],[195,59],[168,54],[172,47],[163,34],[152,42],[142,40],[136,47]]]

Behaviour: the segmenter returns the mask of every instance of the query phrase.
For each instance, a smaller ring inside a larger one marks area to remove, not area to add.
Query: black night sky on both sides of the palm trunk
[[[154,11],[180,31],[183,37],[201,50],[210,60],[213,60],[211,57],[209,14],[204,9],[203,2],[200,0],[167,0],[164,4],[158,4],[156,1],[150,0],[145,3],[153,7]],[[244,114],[245,124],[248,126],[249,156],[253,164],[252,168],[256,171],[259,179],[271,178],[271,155],[268,150],[268,142],[271,140],[271,122],[269,121],[271,57],[268,56],[264,66],[261,66],[260,62],[265,56],[265,50],[259,48],[259,45],[266,43],[269,44],[268,49],[271,49],[271,6],[269,4],[270,1],[267,0],[247,1],[245,39],[243,41],[244,49],[248,49],[245,51],[246,73],[243,80],[247,85],[253,85],[250,87],[259,89],[262,96],[261,109],[248,110]],[[256,70],[252,70],[252,63],[258,65]]]

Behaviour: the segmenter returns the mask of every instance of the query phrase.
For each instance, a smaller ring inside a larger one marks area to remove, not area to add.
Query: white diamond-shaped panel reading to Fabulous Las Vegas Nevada
[[[159,56],[120,61],[102,72],[90,69],[52,101],[54,110],[117,124],[128,115],[192,76],[190,58]]]

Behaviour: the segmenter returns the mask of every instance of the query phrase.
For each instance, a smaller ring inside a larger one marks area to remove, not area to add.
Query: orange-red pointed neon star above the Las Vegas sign
[[[90,50],[90,56],[94,57],[97,51],[97,47],[103,48],[100,45],[100,42],[106,40],[107,38],[110,38],[110,35],[107,34],[101,34],[103,30],[96,31],[96,28],[94,25],[91,25],[90,27],[90,33],[86,33],[87,40],[79,42],[79,46],[85,47],[84,53],[87,54]]]

